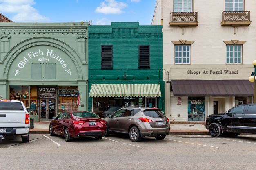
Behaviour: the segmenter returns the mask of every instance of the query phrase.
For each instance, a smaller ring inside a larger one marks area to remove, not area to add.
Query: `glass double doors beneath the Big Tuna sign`
[[[40,100],[40,120],[49,121],[55,116],[55,100],[41,99]]]

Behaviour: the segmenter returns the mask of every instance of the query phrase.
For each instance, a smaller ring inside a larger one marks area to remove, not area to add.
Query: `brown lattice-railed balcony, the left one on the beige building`
[[[198,26],[197,12],[171,12],[170,26]]]

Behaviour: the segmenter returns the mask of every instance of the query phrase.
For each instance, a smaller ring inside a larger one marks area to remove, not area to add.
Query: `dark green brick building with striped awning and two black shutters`
[[[164,109],[162,28],[89,26],[89,110],[101,116],[124,106]]]

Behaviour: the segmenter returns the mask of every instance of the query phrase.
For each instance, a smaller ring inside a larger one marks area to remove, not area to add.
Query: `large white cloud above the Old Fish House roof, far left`
[[[13,22],[49,22],[32,7],[34,0],[0,0],[1,13],[14,13]]]

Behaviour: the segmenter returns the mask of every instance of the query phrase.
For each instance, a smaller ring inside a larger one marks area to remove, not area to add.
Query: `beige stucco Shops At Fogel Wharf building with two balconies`
[[[165,114],[171,121],[205,121],[252,102],[255,7],[255,0],[157,0],[152,25],[163,25]]]

